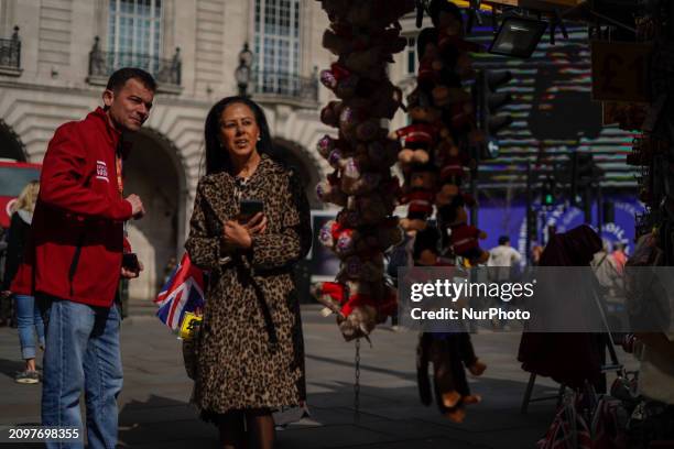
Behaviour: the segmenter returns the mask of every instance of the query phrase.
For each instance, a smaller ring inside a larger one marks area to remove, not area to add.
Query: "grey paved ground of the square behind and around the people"
[[[416,335],[381,327],[372,348],[361,349],[360,414],[354,409],[354,343],[346,343],[331,318],[303,308],[307,390],[312,416],[278,435],[284,448],[533,448],[554,414],[554,401],[534,403],[526,415],[520,404],[528,373],[515,354],[518,333],[472,336],[489,365],[471,388],[483,402],[468,409],[461,425],[443,418],[435,406],[418,402],[414,352]],[[152,317],[123,322],[124,388],[120,396],[120,446],[129,448],[215,448],[215,428],[199,421],[188,404],[186,376],[176,338]],[[15,329],[0,329],[0,424],[40,420],[40,387],[19,385],[22,368]],[[541,380],[534,395],[554,394]],[[9,447],[9,446],[8,446]],[[19,445],[11,445],[18,448]],[[28,447],[28,446],[26,446]]]

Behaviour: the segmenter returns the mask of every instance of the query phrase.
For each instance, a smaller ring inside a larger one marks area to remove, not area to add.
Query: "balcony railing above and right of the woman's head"
[[[318,76],[256,70],[253,72],[254,92],[295,99],[300,102],[318,101]]]

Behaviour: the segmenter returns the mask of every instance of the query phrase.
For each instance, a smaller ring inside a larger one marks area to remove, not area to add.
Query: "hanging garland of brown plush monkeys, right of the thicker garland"
[[[407,97],[411,124],[391,134],[403,147],[398,157],[404,175],[400,202],[409,208],[401,225],[410,234],[424,230],[435,208],[442,232],[448,236],[444,255],[483,263],[488,253],[478,239],[487,236],[466,223],[464,209],[476,206],[464,188],[475,167],[469,149],[481,141],[481,133],[472,96],[461,87],[475,75],[469,53],[480,47],[464,40],[455,4],[433,0],[428,12],[434,26],[417,37],[417,86]]]

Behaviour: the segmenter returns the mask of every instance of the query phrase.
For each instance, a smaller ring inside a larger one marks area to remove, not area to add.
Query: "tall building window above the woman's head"
[[[300,89],[300,0],[256,0],[254,55],[258,91]]]

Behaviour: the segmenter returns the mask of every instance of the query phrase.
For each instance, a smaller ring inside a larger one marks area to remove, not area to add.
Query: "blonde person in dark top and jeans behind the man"
[[[29,240],[35,201],[40,183],[30,182],[17,198],[12,206],[12,217],[8,231],[7,261],[4,265],[4,281],[2,289],[9,292],[10,285],[17,274],[23,250]],[[7,295],[6,295],[7,296]],[[35,384],[40,382],[40,374],[35,369],[35,333],[39,344],[44,349],[44,324],[40,309],[35,306],[35,297],[31,295],[14,295],[14,307],[17,310],[17,325],[19,327],[19,342],[21,355],[25,360],[25,369],[17,373],[15,381],[22,384]]]

